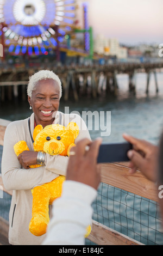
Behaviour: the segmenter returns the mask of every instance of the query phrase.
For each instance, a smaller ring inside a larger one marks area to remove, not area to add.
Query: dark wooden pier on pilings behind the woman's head
[[[117,94],[117,75],[127,74],[129,76],[128,88],[130,92],[136,93],[135,75],[138,72],[147,74],[147,83],[145,91],[148,93],[151,73],[155,76],[156,93],[159,92],[159,86],[156,78],[156,70],[163,68],[163,62],[160,63],[118,63],[111,65],[92,65],[92,66],[41,66],[41,68],[7,68],[0,72],[0,101],[5,101],[18,96],[18,87],[22,87],[22,99],[26,97],[26,86],[29,76],[41,69],[53,70],[60,77],[63,88],[63,97],[67,101],[70,99],[70,93],[74,100],[79,100],[79,94],[85,95],[89,86],[89,94],[96,98],[101,93],[99,88],[99,77],[101,74],[105,77],[105,93]],[[82,82],[80,78],[82,77]],[[89,85],[88,85],[89,84]],[[6,92],[6,87],[7,92]],[[6,97],[7,94],[7,97]]]

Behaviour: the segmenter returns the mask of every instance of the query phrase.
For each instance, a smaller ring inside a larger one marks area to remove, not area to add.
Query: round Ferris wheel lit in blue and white
[[[75,19],[76,0],[0,0],[4,45],[15,54],[44,54],[64,40]]]

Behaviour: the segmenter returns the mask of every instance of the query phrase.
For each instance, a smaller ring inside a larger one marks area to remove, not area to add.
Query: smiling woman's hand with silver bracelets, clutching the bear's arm
[[[17,159],[24,169],[29,169],[29,166],[37,164],[37,152],[23,151]]]

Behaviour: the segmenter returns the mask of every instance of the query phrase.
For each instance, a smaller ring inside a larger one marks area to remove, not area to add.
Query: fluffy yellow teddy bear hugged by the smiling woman
[[[33,132],[34,151],[44,151],[49,155],[69,156],[70,149],[75,146],[74,140],[79,134],[79,127],[76,123],[71,122],[67,127],[53,124],[48,125],[44,129],[42,125],[37,125]],[[20,141],[14,145],[16,155],[20,155],[23,151],[28,150],[27,143]],[[36,164],[30,168],[40,167]],[[36,186],[32,190],[33,206],[32,219],[29,223],[29,230],[35,236],[41,236],[46,233],[49,222],[49,204],[61,196],[62,183],[65,176],[59,176],[53,181]],[[87,237],[91,232],[91,227],[87,227]]]

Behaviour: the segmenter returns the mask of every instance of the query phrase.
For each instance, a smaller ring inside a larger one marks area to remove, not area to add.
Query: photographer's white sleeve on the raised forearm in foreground
[[[65,181],[62,196],[53,203],[53,218],[43,245],[84,245],[96,195],[97,191],[90,186]]]

